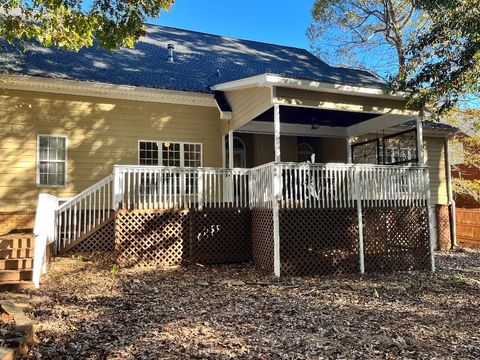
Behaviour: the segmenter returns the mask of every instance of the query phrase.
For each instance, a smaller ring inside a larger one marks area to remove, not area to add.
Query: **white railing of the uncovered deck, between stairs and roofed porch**
[[[115,166],[115,208],[248,207],[248,170]]]

